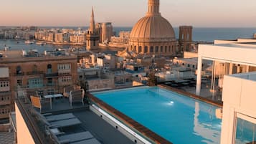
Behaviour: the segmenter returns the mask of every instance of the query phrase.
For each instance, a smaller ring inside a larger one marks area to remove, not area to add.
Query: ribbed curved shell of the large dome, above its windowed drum
[[[130,39],[175,39],[175,33],[169,21],[162,16],[144,16],[134,25]]]

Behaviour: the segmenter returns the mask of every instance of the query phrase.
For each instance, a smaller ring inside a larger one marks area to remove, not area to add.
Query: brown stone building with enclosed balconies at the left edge
[[[62,93],[77,82],[77,56],[66,52],[0,51],[0,120],[14,111],[16,96],[27,91],[44,94]],[[27,54],[26,54],[27,53]]]

